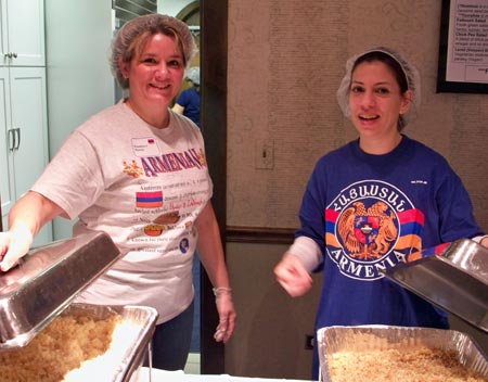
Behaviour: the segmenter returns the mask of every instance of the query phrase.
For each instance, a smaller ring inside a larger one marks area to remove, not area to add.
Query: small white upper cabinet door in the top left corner
[[[3,65],[44,66],[44,1],[0,0]]]

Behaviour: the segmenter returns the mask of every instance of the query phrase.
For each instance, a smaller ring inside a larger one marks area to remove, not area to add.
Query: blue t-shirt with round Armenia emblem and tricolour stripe
[[[406,136],[385,155],[367,154],[352,141],[319,160],[299,217],[296,235],[313,239],[323,254],[316,330],[448,328],[445,311],[380,272],[422,249],[483,234],[461,179],[441,155]]]

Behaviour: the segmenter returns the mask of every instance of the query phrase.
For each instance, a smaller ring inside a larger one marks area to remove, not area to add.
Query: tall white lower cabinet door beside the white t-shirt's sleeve
[[[10,120],[5,118],[7,137],[0,149],[9,168],[2,169],[3,229],[8,228],[7,214],[22,198],[48,164],[48,117],[46,69],[43,67],[2,67],[9,72]],[[9,115],[5,113],[5,115]],[[2,120],[3,124],[3,120]],[[9,177],[3,176],[3,171]],[[9,198],[3,196],[8,192]],[[13,194],[12,194],[13,193]],[[52,225],[47,225],[35,239],[35,245],[52,241]]]

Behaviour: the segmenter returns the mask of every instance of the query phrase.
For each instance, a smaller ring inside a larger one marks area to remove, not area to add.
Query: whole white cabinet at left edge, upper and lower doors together
[[[49,160],[44,1],[0,0],[0,200],[3,229],[13,204]],[[52,241],[52,224],[34,245]]]

